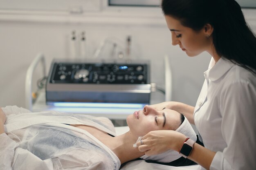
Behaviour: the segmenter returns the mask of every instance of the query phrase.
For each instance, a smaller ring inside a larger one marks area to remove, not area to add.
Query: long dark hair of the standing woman
[[[235,0],[162,0],[162,11],[194,31],[211,24],[218,55],[256,74],[256,37]]]

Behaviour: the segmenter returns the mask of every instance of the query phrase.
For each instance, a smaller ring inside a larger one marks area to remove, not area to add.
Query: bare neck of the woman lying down
[[[133,148],[132,145],[136,141],[137,138],[128,131],[117,137],[109,137],[103,143],[117,155],[122,164],[144,155],[144,152],[139,152],[138,148]]]

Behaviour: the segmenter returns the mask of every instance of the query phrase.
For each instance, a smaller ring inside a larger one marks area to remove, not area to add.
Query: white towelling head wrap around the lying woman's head
[[[180,125],[180,127],[177,128],[177,130],[175,130],[175,131],[186,135],[193,141],[196,141],[195,131],[193,130],[191,124],[189,123],[188,119],[186,119],[186,117],[185,117],[183,123]],[[179,159],[180,157],[181,157],[181,155],[179,154],[179,152],[176,152],[175,150],[168,150],[162,154],[152,155],[152,156],[143,155],[140,158],[145,159],[145,160],[153,160],[153,161],[168,163],[171,161],[175,161],[176,159]]]

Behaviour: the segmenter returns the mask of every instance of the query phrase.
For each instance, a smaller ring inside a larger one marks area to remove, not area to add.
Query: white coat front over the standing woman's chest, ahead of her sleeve
[[[194,112],[195,126],[204,146],[214,151],[222,150],[226,146],[222,135],[220,93],[221,86],[212,86],[211,82],[204,82]]]

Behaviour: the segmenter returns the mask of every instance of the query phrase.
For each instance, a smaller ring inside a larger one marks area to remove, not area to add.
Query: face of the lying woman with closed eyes
[[[180,113],[167,108],[155,110],[148,105],[129,115],[126,121],[130,132],[136,136],[144,136],[153,130],[176,130],[181,123]]]

